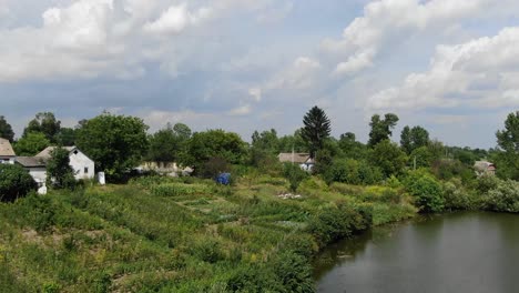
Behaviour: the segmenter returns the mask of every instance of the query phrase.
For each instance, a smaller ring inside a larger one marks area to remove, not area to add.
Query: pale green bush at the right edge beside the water
[[[484,194],[484,209],[495,212],[519,213],[519,182],[499,180]]]

